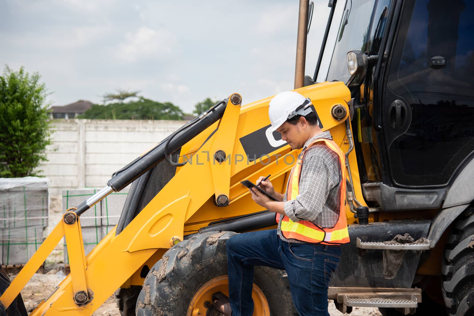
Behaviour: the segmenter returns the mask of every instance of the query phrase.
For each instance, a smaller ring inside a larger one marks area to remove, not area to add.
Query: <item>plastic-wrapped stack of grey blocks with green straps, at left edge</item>
[[[49,180],[0,178],[1,264],[26,264],[48,227]]]

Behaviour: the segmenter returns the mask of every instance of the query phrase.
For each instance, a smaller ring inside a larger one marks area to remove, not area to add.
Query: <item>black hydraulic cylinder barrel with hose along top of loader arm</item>
[[[187,128],[181,129],[179,133],[173,135],[167,149],[169,152],[175,152],[180,149],[185,143],[192,140],[196,135],[204,131],[206,128],[217,122],[226,109],[227,100],[225,103],[211,108],[211,111],[206,112],[206,115],[199,116],[196,122],[185,125]],[[170,137],[170,136],[168,136]],[[169,140],[168,138],[166,140]],[[150,168],[154,167],[158,162],[164,159],[165,142],[161,142],[155,149],[149,151],[146,155],[140,157],[133,165],[112,177],[107,185],[115,192],[125,188],[132,183],[139,176],[143,175]]]

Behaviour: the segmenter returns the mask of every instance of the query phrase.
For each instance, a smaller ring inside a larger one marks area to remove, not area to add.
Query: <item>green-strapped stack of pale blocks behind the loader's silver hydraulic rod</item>
[[[63,190],[64,212],[77,207],[86,201],[100,189],[74,189]],[[85,211],[79,218],[82,230],[82,241],[84,242],[84,254],[88,255],[91,250],[99,244],[111,229],[118,223],[123,205],[127,199],[128,188],[119,193],[111,193],[102,201]],[[64,237],[64,263],[69,264],[66,238]]]

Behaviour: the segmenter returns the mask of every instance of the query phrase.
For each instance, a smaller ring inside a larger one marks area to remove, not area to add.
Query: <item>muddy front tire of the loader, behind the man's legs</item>
[[[137,316],[185,316],[196,293],[212,283],[211,280],[227,276],[226,242],[235,234],[204,233],[168,250],[146,276],[138,296]],[[284,271],[256,266],[254,283],[263,292],[270,315],[298,315],[293,314],[290,285]],[[201,306],[199,315],[206,315],[207,307]]]

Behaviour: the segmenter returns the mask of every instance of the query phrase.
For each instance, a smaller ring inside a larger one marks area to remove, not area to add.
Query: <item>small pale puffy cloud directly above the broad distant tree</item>
[[[125,43],[118,46],[118,59],[134,62],[142,57],[171,55],[176,37],[169,30],[153,30],[146,26],[125,34]]]

